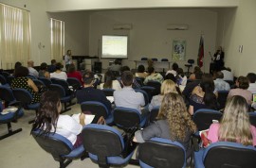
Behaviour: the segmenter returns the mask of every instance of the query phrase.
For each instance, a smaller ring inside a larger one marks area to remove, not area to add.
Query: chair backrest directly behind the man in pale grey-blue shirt
[[[114,123],[122,128],[133,128],[141,122],[140,113],[137,109],[117,107],[113,111]]]

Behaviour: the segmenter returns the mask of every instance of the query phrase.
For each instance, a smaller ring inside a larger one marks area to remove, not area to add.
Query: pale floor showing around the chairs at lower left
[[[74,105],[72,109],[64,114],[79,113],[80,106]],[[0,141],[0,167],[1,168],[57,168],[59,162],[53,160],[50,154],[46,153],[30,135],[31,125],[28,120],[35,116],[34,111],[25,111],[25,115],[12,124],[12,127],[22,127],[22,132]],[[0,135],[7,132],[6,125],[0,125]],[[99,167],[89,159],[73,160],[67,168],[96,168]],[[138,166],[127,165],[128,168]]]

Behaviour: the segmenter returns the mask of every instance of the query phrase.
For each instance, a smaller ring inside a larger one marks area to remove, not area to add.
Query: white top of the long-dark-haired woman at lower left
[[[75,144],[77,141],[77,135],[82,132],[82,125],[76,122],[75,119],[69,115],[60,115],[56,133],[64,136],[72,144]]]

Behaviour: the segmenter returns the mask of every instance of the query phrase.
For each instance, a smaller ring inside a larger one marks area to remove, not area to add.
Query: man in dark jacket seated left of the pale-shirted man
[[[107,100],[104,92],[94,89],[94,74],[90,71],[85,71],[82,74],[83,89],[78,90],[76,93],[78,103],[86,101],[98,101],[101,102],[108,111],[111,111],[111,103]]]

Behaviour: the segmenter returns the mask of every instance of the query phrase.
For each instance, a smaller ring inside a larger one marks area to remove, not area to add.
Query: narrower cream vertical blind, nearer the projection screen
[[[51,18],[50,28],[51,59],[62,62],[64,56],[64,22]]]

